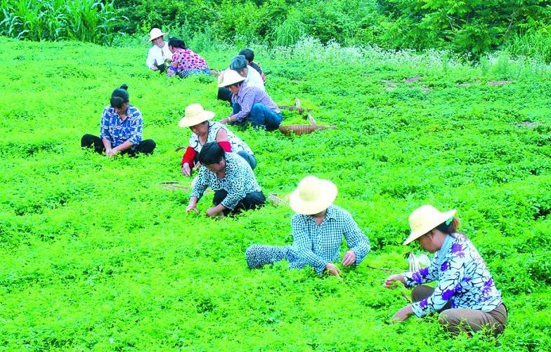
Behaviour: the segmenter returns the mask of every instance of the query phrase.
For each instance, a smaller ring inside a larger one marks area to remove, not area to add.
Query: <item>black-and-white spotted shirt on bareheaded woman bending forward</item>
[[[221,205],[228,209],[235,208],[247,193],[261,191],[257,178],[244,158],[233,153],[226,153],[226,174],[222,180],[216,174],[203,166],[193,184],[190,197],[200,199],[207,187],[213,191],[224,189],[228,192]]]

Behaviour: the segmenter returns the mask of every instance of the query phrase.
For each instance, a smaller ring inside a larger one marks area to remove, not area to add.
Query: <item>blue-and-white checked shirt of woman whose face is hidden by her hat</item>
[[[370,251],[370,242],[352,219],[349,212],[330,205],[323,222],[318,225],[311,215],[295,214],[291,219],[293,244],[290,250],[289,266],[302,268],[310,265],[321,273],[325,264],[339,260],[342,236],[346,245],[356,255],[358,265]]]

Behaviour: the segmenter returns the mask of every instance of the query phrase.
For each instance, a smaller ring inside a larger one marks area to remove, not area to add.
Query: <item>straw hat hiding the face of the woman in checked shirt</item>
[[[292,191],[289,205],[294,212],[314,215],[328,208],[337,198],[337,186],[329,180],[306,176]]]

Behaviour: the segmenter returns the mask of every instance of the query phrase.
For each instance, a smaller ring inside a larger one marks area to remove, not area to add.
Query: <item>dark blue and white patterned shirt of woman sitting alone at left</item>
[[[122,121],[115,108],[107,106],[103,109],[100,123],[100,138],[111,142],[115,148],[127,140],[137,145],[141,142],[143,119],[138,108],[129,104],[127,118]]]

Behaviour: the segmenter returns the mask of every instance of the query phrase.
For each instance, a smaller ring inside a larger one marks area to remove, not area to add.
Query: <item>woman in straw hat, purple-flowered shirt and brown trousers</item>
[[[395,281],[415,287],[411,292],[414,303],[396,312],[393,319],[438,312],[439,323],[452,335],[483,329],[498,335],[505,329],[507,309],[479,252],[457,231],[459,221],[454,215],[455,210],[439,212],[432,205],[411,213],[411,233],[403,245],[417,241],[436,255],[427,268],[387,278],[387,288],[394,287]],[[434,280],[438,280],[436,288],[422,285]]]

